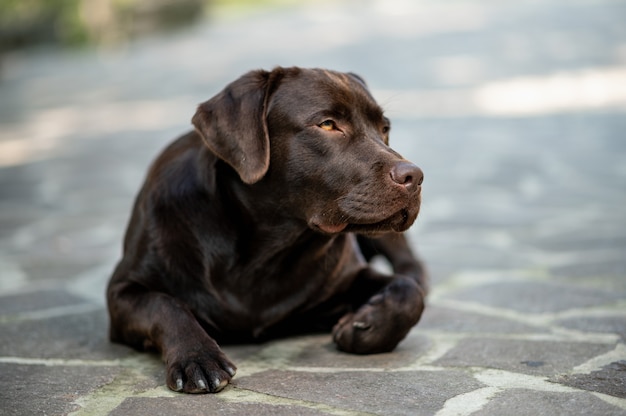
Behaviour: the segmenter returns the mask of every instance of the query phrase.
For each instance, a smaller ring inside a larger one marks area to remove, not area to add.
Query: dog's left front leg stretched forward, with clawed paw
[[[111,340],[160,351],[170,389],[215,393],[235,375],[233,363],[191,311],[173,297],[120,284],[109,287],[108,302]]]

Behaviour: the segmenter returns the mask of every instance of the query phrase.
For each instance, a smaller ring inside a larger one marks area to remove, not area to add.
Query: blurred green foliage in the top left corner
[[[205,9],[246,11],[297,0],[0,0],[0,51],[40,43],[120,42],[185,26]]]

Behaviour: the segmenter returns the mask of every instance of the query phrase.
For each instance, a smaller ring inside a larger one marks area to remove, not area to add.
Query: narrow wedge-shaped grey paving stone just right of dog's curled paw
[[[431,304],[424,311],[418,331],[435,329],[451,333],[502,333],[502,334],[533,334],[546,333],[547,328],[525,325],[510,319],[482,315],[467,311],[459,311]]]

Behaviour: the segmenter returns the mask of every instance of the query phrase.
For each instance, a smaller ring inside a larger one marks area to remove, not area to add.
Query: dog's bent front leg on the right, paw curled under
[[[426,296],[424,269],[402,235],[376,240],[359,238],[359,245],[368,260],[376,254],[385,256],[394,275],[383,275],[371,268],[360,272],[351,288],[356,311],[339,320],[333,328],[333,339],[346,352],[388,352],[422,315]]]

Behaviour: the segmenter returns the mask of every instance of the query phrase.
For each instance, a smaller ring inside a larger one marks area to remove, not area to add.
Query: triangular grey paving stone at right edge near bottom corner
[[[551,381],[626,399],[626,361],[616,361],[589,374],[554,377]]]

